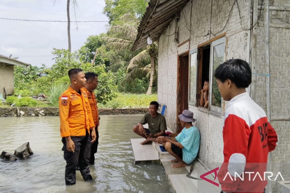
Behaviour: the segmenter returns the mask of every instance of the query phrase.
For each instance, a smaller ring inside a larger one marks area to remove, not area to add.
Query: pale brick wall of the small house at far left
[[[4,96],[3,87],[5,87],[7,94],[14,92],[13,66],[6,66],[4,63],[0,63],[0,93]]]

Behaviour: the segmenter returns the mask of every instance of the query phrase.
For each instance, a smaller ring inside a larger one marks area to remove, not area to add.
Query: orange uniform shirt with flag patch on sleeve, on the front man
[[[58,100],[60,135],[85,136],[86,130],[90,133],[90,128],[94,127],[91,108],[86,91],[81,88],[81,95],[72,87],[68,87]]]

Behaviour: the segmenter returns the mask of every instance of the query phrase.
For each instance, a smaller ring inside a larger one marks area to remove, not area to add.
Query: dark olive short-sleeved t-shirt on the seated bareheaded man
[[[157,113],[157,117],[153,118],[149,112],[147,112],[140,120],[141,124],[148,123],[150,132],[155,135],[160,133],[160,131],[165,131],[167,129],[165,117],[160,113]]]

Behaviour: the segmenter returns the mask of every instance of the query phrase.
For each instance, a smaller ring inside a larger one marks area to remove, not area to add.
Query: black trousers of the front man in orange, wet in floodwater
[[[88,131],[86,136],[70,136],[75,143],[75,152],[70,152],[66,149],[66,138],[61,139],[64,146],[64,159],[66,160],[65,181],[67,185],[73,185],[76,183],[75,170],[79,162],[79,171],[85,181],[92,179],[89,169],[90,148],[91,141]]]

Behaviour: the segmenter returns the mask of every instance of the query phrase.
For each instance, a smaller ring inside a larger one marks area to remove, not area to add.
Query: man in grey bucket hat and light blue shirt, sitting
[[[196,120],[193,118],[193,112],[184,110],[178,115],[182,127],[184,127],[176,137],[157,137],[157,143],[165,143],[165,149],[176,159],[170,160],[177,162],[171,167],[180,168],[190,164],[196,157],[200,145],[199,130],[192,125]]]

